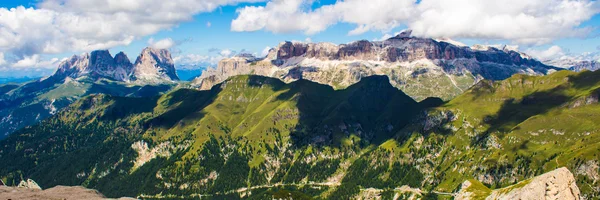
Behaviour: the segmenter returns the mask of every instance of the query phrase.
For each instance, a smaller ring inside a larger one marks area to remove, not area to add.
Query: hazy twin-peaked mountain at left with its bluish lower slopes
[[[89,94],[155,96],[179,80],[167,50],[146,48],[131,63],[125,53],[106,50],[73,56],[47,78],[0,87],[0,139],[35,124]]]

